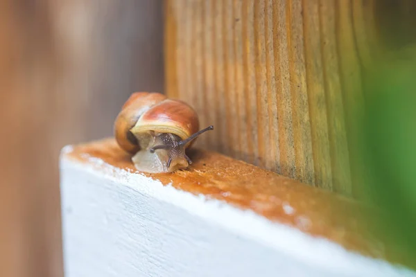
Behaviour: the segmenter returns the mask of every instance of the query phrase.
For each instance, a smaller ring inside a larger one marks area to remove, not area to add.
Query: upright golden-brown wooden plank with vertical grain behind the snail
[[[356,194],[353,117],[363,68],[381,51],[376,1],[165,4],[166,92],[216,127],[200,147]]]

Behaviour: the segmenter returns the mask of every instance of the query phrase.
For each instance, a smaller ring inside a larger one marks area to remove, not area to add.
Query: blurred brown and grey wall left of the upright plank
[[[62,276],[58,156],[162,91],[162,1],[0,1],[0,276]]]

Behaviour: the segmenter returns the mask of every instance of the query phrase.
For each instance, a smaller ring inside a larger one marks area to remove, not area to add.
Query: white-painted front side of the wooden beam
[[[60,170],[66,277],[416,276],[99,159]]]

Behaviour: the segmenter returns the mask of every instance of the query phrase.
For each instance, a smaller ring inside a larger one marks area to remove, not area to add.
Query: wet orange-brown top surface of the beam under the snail
[[[193,163],[188,170],[144,175],[178,190],[254,211],[366,256],[403,262],[394,245],[377,235],[372,222],[376,211],[359,202],[216,152],[191,150],[189,157]],[[94,163],[91,158],[98,158],[115,168],[136,172],[131,156],[114,139],[75,145],[64,158],[81,163]],[[99,170],[100,163],[94,166]]]

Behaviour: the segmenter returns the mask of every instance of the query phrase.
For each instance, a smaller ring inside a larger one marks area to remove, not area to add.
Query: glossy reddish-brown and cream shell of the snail
[[[153,132],[175,134],[183,140],[198,130],[198,114],[192,107],[156,92],[132,93],[114,122],[117,143],[131,154],[146,148]]]

